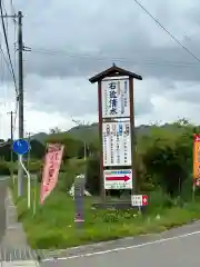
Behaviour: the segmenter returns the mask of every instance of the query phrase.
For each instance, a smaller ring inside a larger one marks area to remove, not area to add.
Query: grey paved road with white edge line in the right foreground
[[[71,250],[66,259],[46,261],[42,267],[199,267],[200,222],[171,231]]]

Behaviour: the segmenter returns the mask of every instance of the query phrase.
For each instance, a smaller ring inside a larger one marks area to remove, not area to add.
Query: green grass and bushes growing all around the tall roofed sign
[[[137,191],[146,192],[150,198],[144,216],[138,215],[136,210],[91,209],[91,202],[93,198],[98,199],[100,190],[97,136],[91,136],[87,141],[88,158],[84,161],[84,140],[63,132],[50,135],[46,141],[59,141],[66,146],[58,187],[44,206],[37,206],[34,217],[27,210],[24,198],[17,201],[19,219],[23,221],[30,244],[34,248],[63,248],[82,243],[164,230],[200,218],[198,191],[196,201],[192,200],[194,132],[199,134],[200,127],[194,127],[183,119],[168,127],[151,126],[144,134],[137,135]],[[3,161],[0,164],[0,171],[4,168],[1,166],[6,166],[6,169],[10,168],[9,164]],[[30,166],[30,168],[34,166],[32,172],[40,172],[42,161],[34,159]],[[77,235],[73,222],[73,200],[67,191],[74,176],[82,172],[87,174],[87,189],[94,197],[86,198],[86,226],[83,231]],[[38,177],[39,191],[41,174]],[[17,200],[14,187],[13,192]]]

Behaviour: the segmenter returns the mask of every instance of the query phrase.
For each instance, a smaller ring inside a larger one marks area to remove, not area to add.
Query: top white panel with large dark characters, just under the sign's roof
[[[130,117],[129,79],[101,81],[102,118]]]

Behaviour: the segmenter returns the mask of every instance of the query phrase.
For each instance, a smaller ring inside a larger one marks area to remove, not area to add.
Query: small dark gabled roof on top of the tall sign
[[[97,81],[99,81],[99,80],[104,79],[106,77],[114,77],[114,76],[129,76],[129,77],[131,77],[131,78],[133,78],[133,79],[142,80],[142,77],[141,77],[141,76],[136,75],[136,73],[133,73],[133,72],[131,72],[131,71],[121,69],[121,68],[117,67],[117,66],[113,63],[113,66],[110,67],[109,69],[100,72],[99,75],[96,75],[96,76],[91,77],[91,78],[89,79],[89,81],[90,81],[91,83],[94,83],[94,82],[97,82]]]

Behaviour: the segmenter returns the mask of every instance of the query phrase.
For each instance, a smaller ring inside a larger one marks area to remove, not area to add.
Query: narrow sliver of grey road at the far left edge
[[[6,230],[6,208],[4,208],[6,195],[7,195],[7,181],[0,179],[0,241]]]

